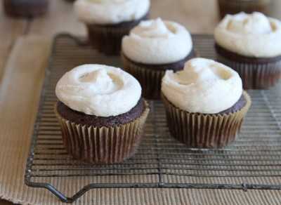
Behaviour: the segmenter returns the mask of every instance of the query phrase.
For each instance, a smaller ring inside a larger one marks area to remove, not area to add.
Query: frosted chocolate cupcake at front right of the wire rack
[[[235,140],[251,105],[239,74],[204,58],[166,71],[162,100],[171,135],[188,147],[224,147]]]

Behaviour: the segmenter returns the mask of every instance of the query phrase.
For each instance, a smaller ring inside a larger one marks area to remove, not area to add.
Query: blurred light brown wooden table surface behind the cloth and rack
[[[211,34],[219,20],[216,0],[151,1],[151,18],[161,17],[180,22],[192,33]],[[86,29],[75,17],[71,3],[63,0],[50,0],[50,3],[48,13],[36,19],[8,18],[0,5],[0,85],[4,74],[8,72],[9,66],[6,64],[18,38],[36,35],[51,39],[58,32],[86,35]],[[272,7],[273,16],[281,19],[281,11],[277,11],[281,8],[281,1],[275,0]],[[5,106],[5,103],[0,105]],[[0,199],[0,204],[11,203]]]

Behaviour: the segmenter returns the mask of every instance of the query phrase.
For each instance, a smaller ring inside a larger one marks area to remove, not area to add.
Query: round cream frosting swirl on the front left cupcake
[[[141,85],[123,70],[106,65],[81,65],[67,72],[55,87],[67,107],[97,117],[129,112],[141,98]]]

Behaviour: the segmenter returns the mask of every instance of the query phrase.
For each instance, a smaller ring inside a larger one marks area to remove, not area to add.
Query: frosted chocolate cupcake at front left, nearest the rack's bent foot
[[[74,159],[113,164],[136,152],[149,108],[130,74],[105,65],[81,65],[63,75],[55,94],[63,143]]]

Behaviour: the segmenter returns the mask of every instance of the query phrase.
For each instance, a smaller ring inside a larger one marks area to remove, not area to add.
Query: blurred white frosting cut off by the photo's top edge
[[[77,0],[79,20],[89,24],[117,24],[139,20],[150,9],[150,0]]]

